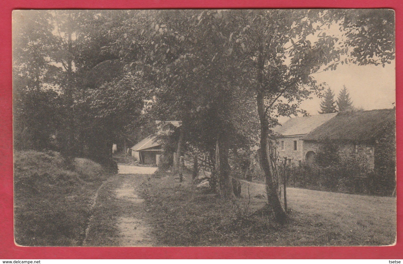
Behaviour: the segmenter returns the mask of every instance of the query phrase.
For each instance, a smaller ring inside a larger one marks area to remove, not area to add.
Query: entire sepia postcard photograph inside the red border
[[[16,245],[396,243],[393,9],[14,10],[12,106]]]

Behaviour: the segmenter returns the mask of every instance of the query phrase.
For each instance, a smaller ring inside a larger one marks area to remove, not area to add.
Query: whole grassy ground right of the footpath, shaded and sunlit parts
[[[395,242],[395,198],[288,189],[290,221],[247,217],[265,204],[263,186],[243,184],[225,201],[158,171],[138,181],[159,246],[348,246]],[[249,199],[250,197],[250,199]]]

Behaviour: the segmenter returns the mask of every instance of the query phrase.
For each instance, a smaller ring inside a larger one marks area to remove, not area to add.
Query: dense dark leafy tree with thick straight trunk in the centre
[[[208,23],[201,23],[206,12]],[[235,59],[225,56],[228,51],[222,44],[227,40],[215,30],[224,23],[222,14],[206,12],[135,12],[123,27],[109,33],[118,37],[119,45],[106,50],[119,54],[124,64],[140,70],[150,87],[155,87],[150,93],[154,103],[148,113],[160,120],[182,121],[177,153],[182,152],[185,141],[210,154],[215,154],[217,147],[221,149],[217,159],[220,168],[216,169],[222,196],[228,197],[229,150],[240,147],[238,139],[247,138],[242,129],[250,126],[242,120],[251,119],[239,118],[240,109],[243,113],[249,111],[242,107],[245,90],[229,67],[236,67]],[[133,28],[145,22],[143,27]]]

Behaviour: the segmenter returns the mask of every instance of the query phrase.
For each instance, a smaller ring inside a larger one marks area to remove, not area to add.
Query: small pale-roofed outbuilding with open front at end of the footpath
[[[173,127],[181,126],[181,121],[156,121],[156,124],[158,128],[156,134],[147,136],[130,148],[132,157],[140,164],[160,164],[163,149],[158,136],[172,133]]]

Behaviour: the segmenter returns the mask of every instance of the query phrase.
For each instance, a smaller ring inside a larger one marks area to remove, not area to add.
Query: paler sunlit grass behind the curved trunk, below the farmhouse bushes
[[[242,181],[253,197],[265,195],[263,184]],[[264,202],[264,198],[260,198]],[[287,204],[291,210],[318,216],[337,224],[342,230],[366,237],[364,242],[382,245],[394,242],[396,235],[396,198],[322,192],[287,188]]]

